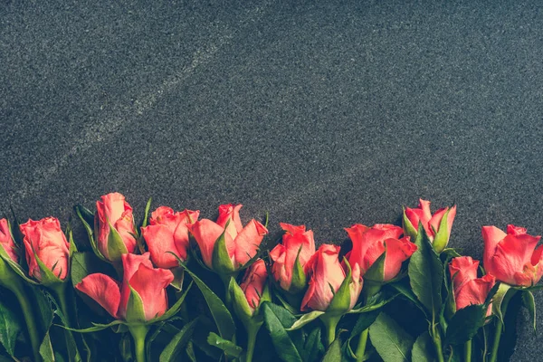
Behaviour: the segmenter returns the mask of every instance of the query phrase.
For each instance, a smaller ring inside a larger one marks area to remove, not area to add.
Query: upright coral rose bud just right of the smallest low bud
[[[306,287],[303,267],[315,253],[315,240],[313,232],[306,231],[305,225],[293,226],[283,223],[280,225],[286,233],[282,236],[282,243],[275,245],[270,252],[273,261],[271,271],[273,278],[280,283],[284,291],[296,293]]]

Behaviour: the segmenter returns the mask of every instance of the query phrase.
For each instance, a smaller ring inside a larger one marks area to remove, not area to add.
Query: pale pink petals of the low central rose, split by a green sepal
[[[305,271],[310,278],[310,285],[301,300],[300,310],[328,310],[330,302],[347,276],[338,261],[338,254],[339,246],[325,243],[320,245],[319,250],[306,263]],[[351,277],[349,310],[355,306],[362,291],[360,268],[357,264],[352,266]]]

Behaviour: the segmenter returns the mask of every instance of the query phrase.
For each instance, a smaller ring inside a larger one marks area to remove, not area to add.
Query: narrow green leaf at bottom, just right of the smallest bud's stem
[[[270,333],[271,342],[277,355],[285,362],[302,362],[300,354],[294,347],[294,343],[281,320],[271,310],[271,305],[269,301],[265,301],[261,305],[261,309],[264,315],[264,326]]]

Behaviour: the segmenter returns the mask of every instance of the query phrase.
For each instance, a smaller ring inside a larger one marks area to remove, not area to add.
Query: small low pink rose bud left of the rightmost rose
[[[462,310],[472,304],[484,304],[496,283],[496,279],[491,274],[477,278],[478,269],[479,261],[473,261],[470,256],[454,258],[449,263],[456,310]],[[489,306],[487,315],[490,314],[491,307]]]

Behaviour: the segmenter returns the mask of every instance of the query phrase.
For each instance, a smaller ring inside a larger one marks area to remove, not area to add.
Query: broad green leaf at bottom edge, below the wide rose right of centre
[[[385,313],[369,327],[369,338],[385,362],[410,361],[414,338]]]

